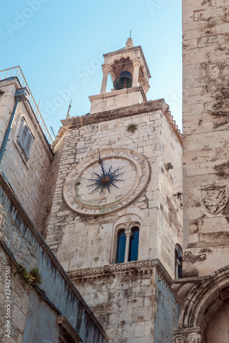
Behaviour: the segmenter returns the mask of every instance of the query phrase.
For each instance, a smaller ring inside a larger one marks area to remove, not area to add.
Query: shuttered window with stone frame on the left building
[[[30,156],[30,150],[32,147],[32,142],[34,137],[25,118],[21,119],[21,126],[19,129],[19,135],[17,137],[17,142],[19,143],[25,158],[28,160]]]

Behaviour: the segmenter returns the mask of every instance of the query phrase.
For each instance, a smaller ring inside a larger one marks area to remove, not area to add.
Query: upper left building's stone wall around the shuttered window
[[[0,82],[0,145],[3,141],[10,114],[14,108],[14,94],[17,88],[21,88],[17,78],[3,80]],[[29,159],[25,158],[23,151],[17,141],[21,120],[25,119],[32,132],[34,141],[30,151]],[[10,183],[21,205],[30,216],[30,219],[40,229],[45,211],[49,205],[45,202],[47,182],[50,177],[53,153],[47,143],[41,128],[28,102],[19,102],[12,128],[10,130],[9,141],[0,165]]]

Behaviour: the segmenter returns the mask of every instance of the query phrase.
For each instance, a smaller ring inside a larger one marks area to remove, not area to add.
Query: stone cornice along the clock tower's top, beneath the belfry
[[[171,128],[175,132],[179,143],[182,145],[182,134],[178,129],[171,112],[168,110],[168,105],[166,105],[164,99],[149,100],[149,102],[142,102],[142,104],[135,104],[127,107],[116,108],[114,110],[107,110],[100,113],[93,113],[91,115],[82,115],[81,117],[71,117],[69,119],[61,120],[65,129],[75,129],[81,126],[91,125],[94,123],[100,123],[103,121],[108,121],[112,119],[122,119],[124,117],[139,115],[140,113],[150,113],[156,110],[161,110],[165,115],[168,123],[170,123]]]

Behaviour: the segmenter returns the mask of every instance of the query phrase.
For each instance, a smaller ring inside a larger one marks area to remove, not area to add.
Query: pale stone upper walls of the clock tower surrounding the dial
[[[179,134],[175,134],[175,131],[171,129],[171,124],[168,123],[164,113],[166,113],[166,104],[163,100],[158,100],[63,121],[67,132],[56,182],[47,242],[56,252],[65,270],[113,263],[116,226],[129,220],[129,222],[139,222],[141,225],[138,259],[159,258],[168,267],[168,272],[173,275],[175,244],[182,236],[181,233],[177,234],[177,222],[172,228],[172,231],[175,230],[174,235],[168,229],[168,224],[171,224],[173,217],[168,215],[168,220],[161,220],[159,211],[163,211],[163,208],[166,212],[171,211],[166,209],[164,198],[165,193],[169,191],[175,212],[179,212],[177,198],[173,197],[171,192],[176,193],[177,189],[180,189],[177,185],[180,185],[181,176],[178,175],[180,169],[177,168],[175,173],[172,171],[171,174],[162,177],[160,188],[163,189],[165,183],[168,185],[159,195],[160,158],[165,150],[168,150],[165,154],[171,155],[169,162],[177,163],[182,147],[177,138]],[[127,126],[130,123],[138,125],[134,134],[127,132]],[[160,134],[161,130],[162,134]],[[161,143],[162,136],[163,143]],[[122,210],[89,217],[80,215],[67,206],[63,199],[63,185],[69,171],[83,159],[97,153],[98,147],[100,150],[125,147],[142,154],[150,166],[149,185],[136,200]],[[173,154],[171,154],[172,151]],[[159,199],[162,199],[162,210]],[[180,220],[180,213],[176,215]],[[164,215],[162,217],[164,218]],[[163,221],[167,224],[164,225]],[[157,241],[158,226],[160,230]],[[168,235],[173,236],[173,239],[168,239]],[[162,244],[159,243],[160,240],[163,241]],[[162,250],[168,246],[168,241],[171,246],[165,254],[163,252],[162,256]]]

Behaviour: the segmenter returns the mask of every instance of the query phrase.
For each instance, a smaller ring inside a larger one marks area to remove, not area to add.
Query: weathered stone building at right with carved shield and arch
[[[229,2],[183,1],[184,279],[174,343],[228,342]]]

